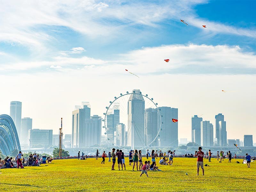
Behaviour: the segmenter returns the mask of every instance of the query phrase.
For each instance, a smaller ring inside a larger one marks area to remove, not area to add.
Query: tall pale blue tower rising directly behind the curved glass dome
[[[11,101],[10,116],[16,126],[19,140],[21,139],[21,106],[22,103],[20,101]]]

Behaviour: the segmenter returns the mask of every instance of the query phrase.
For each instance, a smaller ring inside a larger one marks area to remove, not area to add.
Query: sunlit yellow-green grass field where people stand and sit
[[[218,163],[204,161],[202,176],[196,176],[196,158],[174,158],[173,165],[160,165],[163,171],[148,171],[149,177],[132,171],[128,159],[126,171],[111,171],[112,163],[106,158],[105,164],[99,160],[67,159],[54,160],[52,164],[25,169],[1,169],[0,191],[255,191],[256,162],[251,168],[246,164],[236,164],[225,160]],[[145,161],[146,158],[143,158]],[[159,158],[156,159],[157,162]],[[45,166],[48,165],[48,166]],[[136,168],[135,168],[136,170]],[[188,175],[186,175],[188,173]]]

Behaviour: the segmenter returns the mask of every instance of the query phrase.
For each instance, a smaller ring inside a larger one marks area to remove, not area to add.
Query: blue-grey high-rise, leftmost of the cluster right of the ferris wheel
[[[201,145],[201,121],[203,118],[197,115],[191,118],[191,141],[197,145]]]

